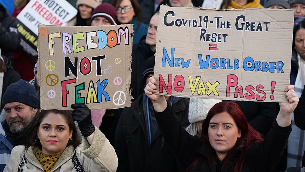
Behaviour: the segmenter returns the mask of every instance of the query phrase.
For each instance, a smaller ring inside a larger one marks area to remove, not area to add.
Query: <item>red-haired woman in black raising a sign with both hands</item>
[[[202,126],[202,140],[181,127],[164,96],[157,95],[157,82],[151,77],[145,94],[152,100],[164,142],[181,170],[188,172],[273,171],[281,159],[291,132],[292,112],[298,98],[289,85],[287,100],[281,103],[276,121],[266,138],[251,128],[239,106],[220,102],[209,111]]]

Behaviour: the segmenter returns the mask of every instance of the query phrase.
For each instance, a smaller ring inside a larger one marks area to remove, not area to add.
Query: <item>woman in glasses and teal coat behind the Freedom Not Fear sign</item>
[[[133,24],[133,44],[139,43],[142,36],[147,35],[148,25],[141,23],[141,8],[137,0],[115,0],[118,24]]]

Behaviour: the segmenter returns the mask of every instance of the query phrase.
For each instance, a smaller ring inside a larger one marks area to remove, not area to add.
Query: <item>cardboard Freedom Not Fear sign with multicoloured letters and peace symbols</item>
[[[131,105],[131,24],[39,26],[38,73],[41,109],[91,110]]]

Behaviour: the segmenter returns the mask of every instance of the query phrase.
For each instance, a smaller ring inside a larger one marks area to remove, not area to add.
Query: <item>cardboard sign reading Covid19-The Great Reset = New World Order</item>
[[[293,10],[161,6],[158,94],[287,102]]]

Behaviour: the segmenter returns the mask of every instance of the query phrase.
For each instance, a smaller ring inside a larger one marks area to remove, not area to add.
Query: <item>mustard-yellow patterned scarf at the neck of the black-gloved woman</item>
[[[56,164],[57,160],[59,159],[60,154],[55,155],[47,155],[44,154],[41,149],[38,149],[35,153],[35,157],[40,162],[42,168],[44,169],[44,172],[51,172],[54,165]]]

